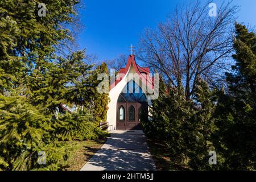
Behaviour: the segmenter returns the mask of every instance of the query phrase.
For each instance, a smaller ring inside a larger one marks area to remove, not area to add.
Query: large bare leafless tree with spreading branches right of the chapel
[[[174,88],[184,86],[185,97],[193,95],[195,80],[220,78],[233,51],[233,24],[238,7],[231,2],[218,6],[209,16],[209,2],[200,1],[176,10],[156,30],[147,29],[141,39],[139,59],[158,69]]]

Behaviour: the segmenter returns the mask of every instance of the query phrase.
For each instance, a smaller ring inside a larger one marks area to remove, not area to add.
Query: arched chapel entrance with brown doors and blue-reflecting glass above
[[[127,84],[129,85],[129,84]],[[140,114],[141,108],[146,108],[147,101],[146,96],[142,92],[141,88],[133,81],[134,89],[128,88],[125,93],[121,93],[117,102],[117,130],[141,130]],[[137,92],[135,92],[137,89]],[[148,115],[148,113],[143,113]]]

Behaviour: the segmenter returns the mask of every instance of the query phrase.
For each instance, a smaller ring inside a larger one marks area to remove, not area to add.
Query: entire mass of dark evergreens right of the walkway
[[[148,137],[165,143],[168,157],[181,167],[256,168],[256,36],[241,24],[235,26],[236,65],[232,73],[226,73],[226,93],[224,89],[209,90],[207,82],[197,76],[192,100],[185,100],[181,82],[174,89],[160,80],[152,119],[143,121]],[[208,164],[209,151],[216,151],[217,165]]]

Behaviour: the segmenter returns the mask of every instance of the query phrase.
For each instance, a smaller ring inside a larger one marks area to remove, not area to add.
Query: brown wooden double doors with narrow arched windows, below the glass
[[[117,130],[141,130],[147,102],[117,102]]]

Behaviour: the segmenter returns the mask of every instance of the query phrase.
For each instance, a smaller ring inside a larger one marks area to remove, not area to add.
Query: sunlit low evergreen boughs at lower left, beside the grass
[[[57,170],[72,150],[59,140],[92,140],[105,137],[90,115],[66,113],[55,122],[26,97],[0,96],[0,169]],[[38,152],[46,152],[47,165],[39,165]]]

